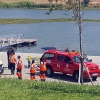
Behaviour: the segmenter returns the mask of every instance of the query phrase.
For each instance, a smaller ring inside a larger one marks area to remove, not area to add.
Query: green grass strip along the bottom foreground
[[[0,79],[0,100],[100,100],[99,86]]]

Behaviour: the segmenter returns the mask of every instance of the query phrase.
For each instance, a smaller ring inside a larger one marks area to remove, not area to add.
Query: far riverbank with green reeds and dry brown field
[[[63,2],[58,0],[57,2],[52,2],[53,9],[65,9],[62,7],[63,3],[66,4],[67,1]],[[100,3],[100,2],[99,2]],[[82,4],[83,9],[100,9],[100,4],[89,3],[88,6]],[[51,5],[48,0],[0,0],[0,8],[28,8],[28,9],[50,9]]]

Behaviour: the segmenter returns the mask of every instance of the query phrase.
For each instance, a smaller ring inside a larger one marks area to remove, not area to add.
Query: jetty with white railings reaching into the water
[[[23,34],[9,34],[0,36],[0,50],[13,47],[31,46],[36,44],[37,39],[25,39]]]

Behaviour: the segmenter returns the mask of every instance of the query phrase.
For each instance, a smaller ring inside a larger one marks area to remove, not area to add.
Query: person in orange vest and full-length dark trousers
[[[11,53],[9,56],[9,64],[10,64],[10,70],[11,70],[11,74],[14,75],[15,72],[15,63],[16,63],[16,57],[14,53]]]

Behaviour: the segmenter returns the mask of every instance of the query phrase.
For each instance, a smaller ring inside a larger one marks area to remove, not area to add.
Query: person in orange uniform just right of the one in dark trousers
[[[18,62],[17,62],[17,76],[18,79],[22,79],[22,68],[23,68],[23,64],[22,64],[22,60],[21,60],[21,56],[18,56]]]

